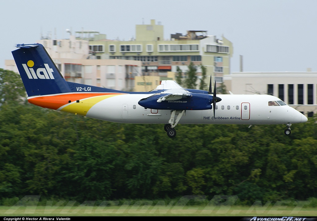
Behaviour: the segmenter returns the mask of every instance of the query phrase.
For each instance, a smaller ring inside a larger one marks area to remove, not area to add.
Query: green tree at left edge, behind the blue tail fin
[[[20,75],[0,68],[0,104],[20,101],[25,97],[25,89]]]

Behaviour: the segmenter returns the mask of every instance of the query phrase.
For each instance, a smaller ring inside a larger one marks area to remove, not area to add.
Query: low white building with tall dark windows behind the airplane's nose
[[[234,94],[271,94],[308,116],[317,113],[317,72],[233,72],[224,83]]]

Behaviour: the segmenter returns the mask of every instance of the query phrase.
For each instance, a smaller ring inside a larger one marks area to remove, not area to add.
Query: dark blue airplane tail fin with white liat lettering
[[[17,44],[12,51],[28,97],[71,92],[42,44]]]

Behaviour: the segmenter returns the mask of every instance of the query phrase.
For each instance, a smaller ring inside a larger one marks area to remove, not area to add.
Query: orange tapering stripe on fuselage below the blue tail
[[[112,95],[120,93],[78,93],[78,94],[60,94],[54,96],[43,96],[29,98],[29,103],[35,104],[40,107],[45,107],[53,110],[57,110],[61,106],[70,102],[81,100],[87,97],[96,97],[101,95]],[[69,102],[70,101],[70,102]]]

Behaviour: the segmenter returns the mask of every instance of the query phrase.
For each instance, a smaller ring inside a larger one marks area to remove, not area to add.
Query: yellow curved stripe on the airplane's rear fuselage
[[[97,104],[98,102],[107,99],[109,97],[114,97],[120,94],[112,94],[112,95],[102,95],[97,97],[91,97],[79,100],[79,103],[70,103],[66,107],[62,108],[61,111],[73,113],[73,114],[79,114],[82,116],[86,116],[88,110]]]

